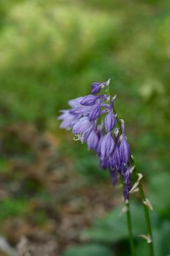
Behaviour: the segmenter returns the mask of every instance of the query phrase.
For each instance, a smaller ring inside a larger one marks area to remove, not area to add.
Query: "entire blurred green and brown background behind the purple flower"
[[[57,120],[108,78],[155,210],[155,255],[170,254],[169,0],[0,0],[0,255],[130,255],[122,189]]]

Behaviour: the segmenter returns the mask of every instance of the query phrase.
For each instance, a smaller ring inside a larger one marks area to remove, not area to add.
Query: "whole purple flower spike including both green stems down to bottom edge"
[[[148,208],[150,202],[144,196],[144,189],[140,181],[142,174],[138,173],[134,165],[134,158],[131,156],[131,148],[125,135],[125,123],[123,119],[117,116],[114,107],[116,95],[111,98],[109,82],[110,79],[104,83],[93,83],[91,86],[92,94],[69,100],[71,108],[62,110],[62,114],[58,119],[62,120],[61,128],[72,129],[77,140],[80,140],[81,143],[87,143],[90,150],[96,151],[99,166],[103,170],[109,170],[114,186],[117,183],[117,176],[120,176],[123,183],[123,196],[132,256],[135,255],[135,247],[129,196],[134,189],[139,189],[147,229],[147,235],[141,236],[147,239],[150,256],[154,256]],[[105,94],[98,94],[101,89],[105,89]],[[131,176],[136,179],[133,187],[131,186]]]

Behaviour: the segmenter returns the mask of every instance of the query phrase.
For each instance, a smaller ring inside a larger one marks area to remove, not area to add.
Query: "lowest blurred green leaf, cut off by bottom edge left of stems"
[[[63,256],[113,256],[113,252],[107,246],[88,244],[82,246],[71,246]]]

